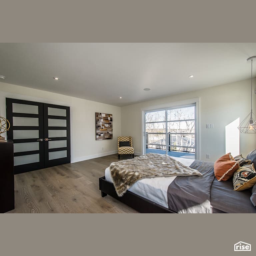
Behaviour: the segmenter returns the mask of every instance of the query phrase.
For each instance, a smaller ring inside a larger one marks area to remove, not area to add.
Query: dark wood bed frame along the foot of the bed
[[[176,213],[130,191],[126,191],[122,197],[119,197],[113,183],[107,181],[105,176],[99,178],[99,189],[102,197],[110,195],[140,213]]]

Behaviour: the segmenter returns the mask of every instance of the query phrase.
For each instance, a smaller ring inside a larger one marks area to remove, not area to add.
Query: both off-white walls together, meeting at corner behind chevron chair
[[[255,80],[253,88],[255,88]],[[256,94],[253,93],[252,96],[253,110],[256,112]],[[155,99],[122,108],[0,82],[0,116],[3,117],[6,116],[5,97],[70,106],[71,162],[117,153],[117,136],[119,135],[133,136],[135,152],[141,154],[142,109],[150,110],[158,106],[169,107],[174,102],[198,97],[200,101],[200,159],[208,160],[205,158],[205,154],[210,154],[210,161],[215,161],[225,154],[225,126],[237,118],[242,120],[250,112],[250,80]],[[113,114],[113,140],[95,140],[95,112]],[[214,128],[206,129],[207,123],[213,123]],[[246,156],[255,148],[256,134],[240,134],[240,153]]]

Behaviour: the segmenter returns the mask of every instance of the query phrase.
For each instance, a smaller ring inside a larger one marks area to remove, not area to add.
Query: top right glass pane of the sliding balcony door
[[[195,106],[167,110],[167,121],[195,119]]]

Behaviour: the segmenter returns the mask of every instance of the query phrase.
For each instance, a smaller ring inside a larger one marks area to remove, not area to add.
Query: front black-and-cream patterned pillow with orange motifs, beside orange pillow
[[[234,190],[245,190],[256,184],[256,171],[253,164],[246,164],[235,171],[233,176]]]

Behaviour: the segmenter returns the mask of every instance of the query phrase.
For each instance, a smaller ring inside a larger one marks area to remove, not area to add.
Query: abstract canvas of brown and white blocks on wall
[[[113,117],[111,114],[96,114],[96,140],[113,139]]]

